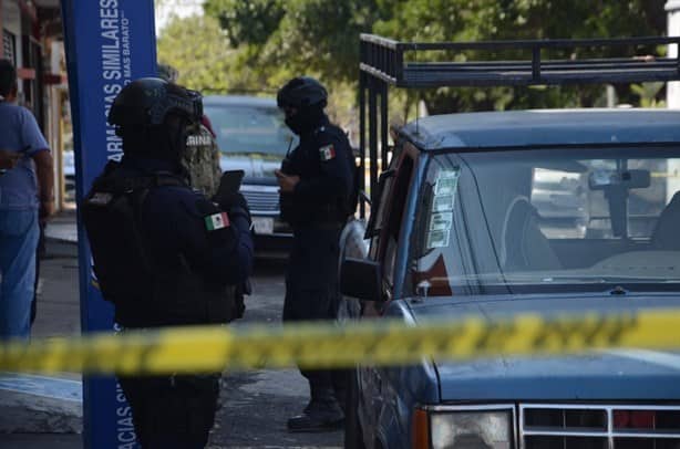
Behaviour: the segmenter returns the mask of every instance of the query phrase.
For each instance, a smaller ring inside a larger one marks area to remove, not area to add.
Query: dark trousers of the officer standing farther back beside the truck
[[[341,223],[313,223],[293,230],[292,251],[286,273],[284,322],[332,321],[340,304],[338,279]],[[344,407],[346,376],[342,370],[300,369],[312,399],[319,391],[334,393]]]

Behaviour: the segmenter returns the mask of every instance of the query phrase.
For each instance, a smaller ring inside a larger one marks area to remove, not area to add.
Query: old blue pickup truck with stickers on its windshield
[[[404,64],[390,73],[399,64],[375,61],[408,46],[362,40],[388,49],[364,59],[364,74],[409,87],[423,82],[415,72],[434,71]],[[663,61],[568,75],[677,80],[678,61],[668,73]],[[506,81],[557,84],[550,76],[564,75],[542,61],[527,64]],[[483,83],[506,76],[487,69]],[[346,232],[368,242],[363,254],[348,251],[341,269],[346,319],[419,325],[680,306],[680,111],[437,115],[396,129],[393,140],[389,166],[371,174],[368,224]],[[680,354],[626,348],[358,366],[346,448],[680,448]]]

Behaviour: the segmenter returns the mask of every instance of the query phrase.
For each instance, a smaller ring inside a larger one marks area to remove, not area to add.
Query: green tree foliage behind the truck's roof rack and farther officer
[[[200,31],[203,38],[197,38],[202,50],[194,51],[193,59],[173,58],[196,87],[275,91],[297,74],[318,76],[331,87],[331,103],[342,98],[343,103],[336,106],[347,122],[356,115],[348,111],[356,104],[362,32],[423,42],[661,35],[666,31],[664,3],[666,0],[206,0],[208,25]],[[219,23],[223,33],[215,31],[215,23]],[[175,46],[182,42],[171,41],[169,29],[167,34],[167,40],[164,35],[159,41],[162,58],[181,52]],[[636,49],[638,54],[652,50]],[[550,56],[631,55],[619,51],[568,49]],[[530,55],[467,52],[427,58]],[[187,70],[185,64],[192,69]],[[199,75],[202,70],[207,73]],[[655,104],[653,98],[648,98],[648,88],[615,87],[621,102],[640,104],[645,97],[642,103]],[[393,98],[409,104],[422,98],[431,113],[591,106],[601,104],[605,93],[604,86],[396,91],[391,91]],[[657,91],[658,97],[663,94],[662,90]],[[392,111],[413,114],[415,108],[409,104]]]

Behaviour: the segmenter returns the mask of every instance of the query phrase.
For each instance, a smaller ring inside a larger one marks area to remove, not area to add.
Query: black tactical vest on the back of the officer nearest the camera
[[[226,323],[234,320],[234,288],[216,288],[184,261],[161,268],[148,250],[140,215],[148,192],[157,187],[189,188],[172,174],[122,177],[109,163],[82,203],[96,283],[115,305],[124,327]]]

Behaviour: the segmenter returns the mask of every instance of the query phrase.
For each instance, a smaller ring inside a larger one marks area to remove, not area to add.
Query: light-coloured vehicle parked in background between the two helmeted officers
[[[204,111],[217,134],[220,168],[244,170],[241,194],[253,215],[256,251],[275,255],[287,251],[290,228],[279,219],[279,187],[274,170],[297,145],[274,98],[214,95],[204,98]]]

